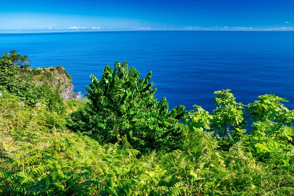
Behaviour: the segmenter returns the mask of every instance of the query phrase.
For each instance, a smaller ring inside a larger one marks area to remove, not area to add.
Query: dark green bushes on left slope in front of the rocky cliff
[[[35,83],[31,76],[25,74],[26,71],[23,69],[25,67],[20,67],[21,62],[27,59],[27,56],[20,56],[15,51],[12,54],[7,52],[3,54],[4,56],[0,57],[0,89],[6,89],[19,96],[21,101],[31,107],[35,106],[37,102],[42,102],[48,105],[47,108],[50,111],[65,112],[65,106],[59,92],[53,90],[53,87],[46,83],[40,85]]]

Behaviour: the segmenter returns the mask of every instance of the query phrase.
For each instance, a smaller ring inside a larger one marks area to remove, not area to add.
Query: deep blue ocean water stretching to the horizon
[[[0,51],[27,54],[32,67],[62,65],[74,90],[86,93],[90,74],[126,60],[141,77],[152,71],[156,98],[170,109],[194,104],[212,111],[214,91],[232,89],[248,104],[263,94],[294,109],[294,32],[114,31],[0,34]]]

